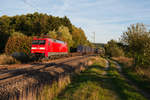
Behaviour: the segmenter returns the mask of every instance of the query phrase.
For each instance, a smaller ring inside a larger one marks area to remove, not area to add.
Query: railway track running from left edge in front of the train
[[[77,56],[77,57],[70,57],[65,59],[58,59],[51,63],[45,63],[45,64],[33,64],[27,68],[19,68],[15,70],[8,70],[5,73],[0,74],[0,87],[4,87],[13,83],[16,83],[18,81],[26,79],[26,76],[28,74],[32,74],[36,71],[48,71],[53,70],[56,68],[57,65],[61,64],[67,64],[70,62],[73,62],[75,60],[81,60],[85,58],[86,56]]]

